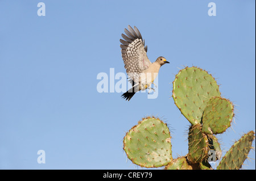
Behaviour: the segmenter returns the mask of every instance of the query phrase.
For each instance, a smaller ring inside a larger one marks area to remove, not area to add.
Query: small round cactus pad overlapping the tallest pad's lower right
[[[228,99],[213,97],[205,106],[202,131],[205,134],[219,134],[230,127],[234,106]]]

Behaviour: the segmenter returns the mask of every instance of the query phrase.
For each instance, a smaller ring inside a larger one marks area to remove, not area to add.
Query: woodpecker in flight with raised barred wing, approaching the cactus
[[[151,90],[151,84],[154,84],[154,79],[158,75],[159,69],[164,64],[170,64],[166,58],[160,56],[156,58],[155,62],[151,62],[147,57],[147,45],[138,28],[134,29],[129,25],[128,30],[125,28],[124,35],[122,33],[121,53],[123,63],[125,64],[126,73],[128,74],[129,82],[132,87],[127,92],[122,94],[122,98],[130,100],[134,94],[141,90]],[[156,85],[155,85],[156,87]],[[155,91],[155,90],[154,90]]]

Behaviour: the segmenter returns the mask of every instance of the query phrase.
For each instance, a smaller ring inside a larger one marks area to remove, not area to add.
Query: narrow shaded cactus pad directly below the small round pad
[[[212,134],[208,134],[208,143],[209,143],[209,150],[215,151],[215,158],[212,158],[212,161],[215,162],[218,159],[220,159],[221,155],[222,155],[220,143],[218,142],[217,138],[215,136],[213,136]],[[209,153],[208,153],[208,156],[210,156]],[[213,157],[213,155],[212,155],[212,157]]]

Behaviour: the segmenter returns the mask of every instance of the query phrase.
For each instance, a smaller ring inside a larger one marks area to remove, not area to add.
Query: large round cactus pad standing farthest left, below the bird
[[[172,160],[170,131],[163,121],[146,117],[123,138],[127,157],[141,167],[160,167]]]

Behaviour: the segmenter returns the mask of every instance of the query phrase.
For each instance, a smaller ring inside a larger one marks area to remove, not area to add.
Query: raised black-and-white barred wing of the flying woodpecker
[[[134,26],[133,30],[129,25],[128,30],[125,28],[125,33],[127,36],[122,34],[125,40],[120,39],[123,62],[129,78],[138,83],[138,75],[151,64],[147,57],[147,46],[145,47],[137,27]]]

